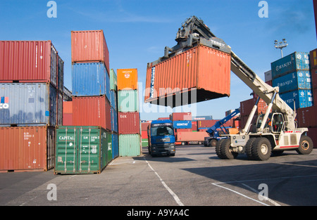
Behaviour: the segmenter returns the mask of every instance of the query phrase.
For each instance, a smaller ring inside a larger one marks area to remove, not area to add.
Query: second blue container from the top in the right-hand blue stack
[[[280,93],[298,89],[311,89],[311,74],[308,70],[287,73],[272,80],[273,87],[278,86]]]

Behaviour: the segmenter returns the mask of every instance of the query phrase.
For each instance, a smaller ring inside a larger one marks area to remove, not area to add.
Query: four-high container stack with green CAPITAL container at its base
[[[113,159],[109,52],[104,32],[72,31],[71,51],[73,126],[56,131],[61,138],[56,138],[55,173],[100,173]]]

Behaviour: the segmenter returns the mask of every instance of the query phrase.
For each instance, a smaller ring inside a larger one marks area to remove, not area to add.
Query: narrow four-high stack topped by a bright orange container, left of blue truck
[[[137,69],[118,69],[119,155],[141,155]]]

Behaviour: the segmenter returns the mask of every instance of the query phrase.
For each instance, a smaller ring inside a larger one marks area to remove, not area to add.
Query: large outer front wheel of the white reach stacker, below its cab
[[[268,160],[271,157],[271,142],[268,138],[256,138],[251,146],[251,155],[254,160]]]

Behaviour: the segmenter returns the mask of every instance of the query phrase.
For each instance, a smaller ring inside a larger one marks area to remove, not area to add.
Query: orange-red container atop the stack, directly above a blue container
[[[103,62],[109,74],[109,51],[103,30],[71,31],[72,63]]]

